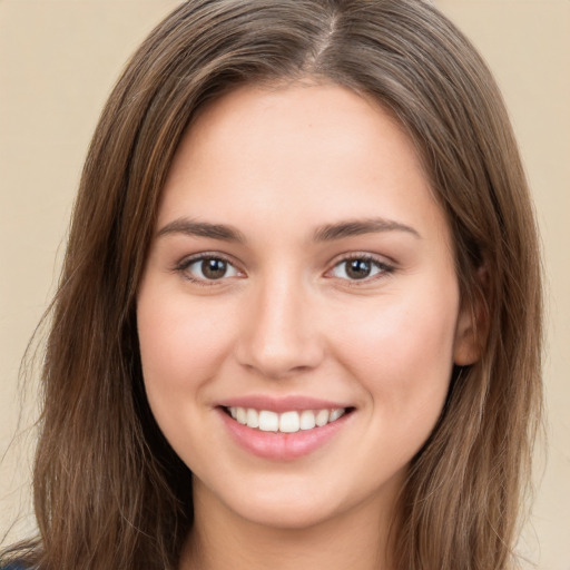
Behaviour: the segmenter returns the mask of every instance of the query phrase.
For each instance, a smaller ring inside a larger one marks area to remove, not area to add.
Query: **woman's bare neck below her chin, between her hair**
[[[199,485],[199,483],[198,483]],[[362,504],[307,528],[261,525],[195,493],[195,523],[180,570],[389,570],[394,509]],[[215,500],[214,500],[215,501]],[[379,514],[380,513],[380,514]]]

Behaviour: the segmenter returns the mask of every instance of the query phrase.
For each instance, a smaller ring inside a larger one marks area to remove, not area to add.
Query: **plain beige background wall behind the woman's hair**
[[[33,528],[33,390],[22,413],[18,367],[53,293],[90,134],[124,61],[177,3],[0,0],[0,539],[10,527],[11,538]],[[541,482],[521,550],[541,569],[570,570],[570,1],[435,3],[494,70],[534,191],[550,444],[548,461],[543,448],[537,453]]]

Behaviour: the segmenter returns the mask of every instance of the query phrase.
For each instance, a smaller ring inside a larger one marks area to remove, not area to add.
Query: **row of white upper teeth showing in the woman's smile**
[[[313,430],[342,417],[346,410],[303,410],[303,412],[269,412],[268,410],[255,410],[253,407],[232,406],[228,409],[234,420],[248,428],[258,429],[262,432],[295,433],[299,430]]]

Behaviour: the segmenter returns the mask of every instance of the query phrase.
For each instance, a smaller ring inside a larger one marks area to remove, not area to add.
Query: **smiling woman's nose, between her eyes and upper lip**
[[[236,351],[239,363],[267,379],[311,371],[325,354],[309,292],[283,275],[257,287],[248,301],[240,333]]]

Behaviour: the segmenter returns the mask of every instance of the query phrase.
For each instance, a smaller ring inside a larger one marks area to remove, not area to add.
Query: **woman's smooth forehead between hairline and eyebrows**
[[[307,226],[371,216],[444,223],[411,138],[374,101],[335,85],[239,88],[187,130],[159,224],[242,213],[245,225],[279,227],[288,210]]]

